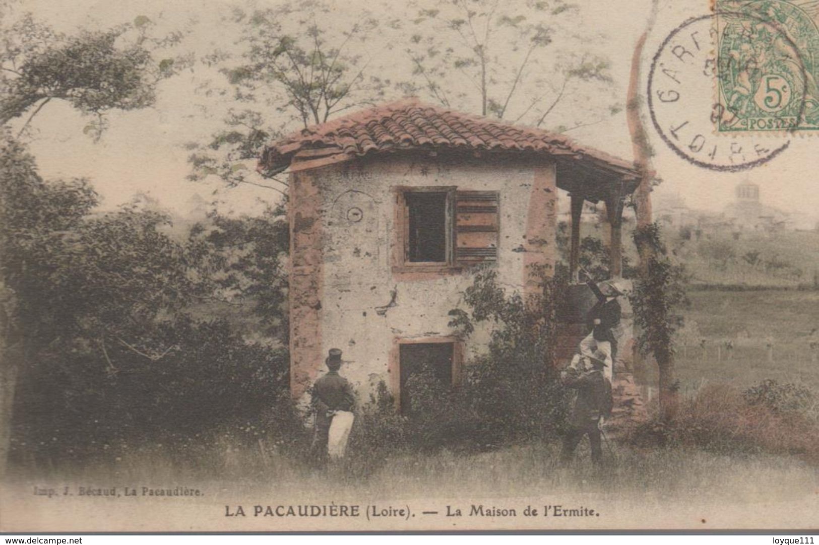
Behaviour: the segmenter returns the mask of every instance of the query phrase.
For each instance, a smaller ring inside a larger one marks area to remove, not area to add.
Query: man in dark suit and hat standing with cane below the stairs
[[[603,372],[605,359],[606,354],[597,350],[581,358],[581,365],[568,367],[563,372],[563,385],[577,390],[577,398],[568,417],[568,432],[563,437],[563,452],[560,455],[563,462],[572,459],[583,435],[589,436],[591,461],[596,464],[603,457],[600,446],[601,418],[609,417],[612,404],[611,383]]]

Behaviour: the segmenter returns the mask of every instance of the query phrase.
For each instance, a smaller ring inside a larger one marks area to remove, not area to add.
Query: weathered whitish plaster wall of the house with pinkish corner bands
[[[454,161],[387,156],[296,173],[292,188],[291,295],[294,394],[321,372],[330,348],[344,351],[342,367],[366,399],[388,374],[396,338],[450,336],[450,309],[464,308],[472,272],[396,273],[392,245],[393,187],[457,186],[459,191],[500,191],[499,282],[525,291],[532,265],[554,267],[556,198],[554,164],[496,160]],[[304,199],[305,202],[299,200]],[[307,218],[320,218],[320,225]],[[301,219],[300,219],[301,218]],[[306,249],[300,249],[304,244]],[[316,254],[320,249],[321,259]],[[532,284],[528,288],[532,289]],[[301,290],[317,290],[318,301]],[[395,306],[379,315],[377,309]],[[306,306],[306,309],[304,308]],[[298,323],[305,321],[304,323]],[[488,331],[464,343],[464,360],[486,346]],[[320,350],[317,351],[320,345]],[[394,352],[393,352],[394,354]]]

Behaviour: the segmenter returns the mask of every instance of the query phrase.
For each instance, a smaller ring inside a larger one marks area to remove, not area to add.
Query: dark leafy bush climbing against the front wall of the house
[[[524,300],[507,295],[491,269],[478,272],[464,293],[471,312],[450,312],[450,327],[469,336],[475,323],[492,324],[489,350],[464,367],[456,387],[441,384],[432,370],[409,378],[414,407],[396,411],[386,385],[362,409],[351,444],[366,463],[404,449],[475,452],[542,439],[562,426],[567,406],[553,372],[555,281]],[[554,294],[554,295],[553,295]]]

